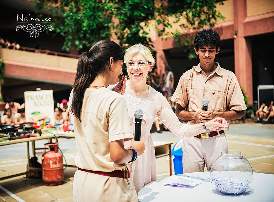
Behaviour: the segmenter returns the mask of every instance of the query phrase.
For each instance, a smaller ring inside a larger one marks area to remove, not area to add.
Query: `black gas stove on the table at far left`
[[[1,139],[16,140],[21,138],[29,138],[41,136],[42,131],[35,128],[18,128],[11,131],[0,131]]]

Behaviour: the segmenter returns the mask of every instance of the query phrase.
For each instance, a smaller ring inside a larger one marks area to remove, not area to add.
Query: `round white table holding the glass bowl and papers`
[[[194,173],[193,173],[194,174]],[[196,174],[196,173],[195,173]],[[180,176],[182,174],[179,174]],[[188,173],[191,175],[191,173]],[[209,180],[203,180],[201,184],[193,188],[164,186],[169,177],[158,179],[144,186],[138,193],[140,202],[267,202],[274,201],[274,175],[253,173],[253,181],[250,187],[242,194],[227,195],[218,191]]]

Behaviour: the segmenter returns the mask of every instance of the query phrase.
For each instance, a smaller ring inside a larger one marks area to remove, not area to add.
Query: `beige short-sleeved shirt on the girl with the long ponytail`
[[[69,97],[69,108],[72,97],[73,91]],[[81,122],[73,114],[71,117],[78,148],[75,157],[77,167],[103,172],[128,169],[126,164],[115,164],[110,158],[110,142],[134,137],[122,95],[107,88],[87,88]]]

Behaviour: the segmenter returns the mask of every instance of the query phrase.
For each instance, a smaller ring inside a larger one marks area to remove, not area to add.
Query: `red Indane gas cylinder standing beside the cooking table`
[[[64,179],[63,156],[58,152],[58,143],[47,143],[50,151],[42,155],[42,179],[46,186],[62,184]]]

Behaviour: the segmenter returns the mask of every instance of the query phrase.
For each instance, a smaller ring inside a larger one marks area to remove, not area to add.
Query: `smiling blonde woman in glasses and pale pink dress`
[[[127,65],[129,80],[123,96],[127,102],[133,133],[135,131],[135,110],[142,109],[144,112],[141,131],[141,140],[146,145],[144,154],[129,164],[130,178],[138,193],[144,185],[156,180],[155,151],[150,134],[150,128],[156,116],[172,133],[180,138],[196,136],[205,132],[205,129],[203,129],[203,124],[191,126],[181,124],[166,98],[146,84],[147,74],[152,71],[155,64],[154,57],[147,47],[143,44],[136,44],[128,48],[125,52],[124,62]],[[216,118],[204,124],[208,130],[220,131],[224,129],[221,127],[221,123],[227,124],[224,118]],[[130,141],[124,142],[124,146],[129,148]]]

